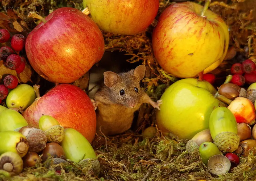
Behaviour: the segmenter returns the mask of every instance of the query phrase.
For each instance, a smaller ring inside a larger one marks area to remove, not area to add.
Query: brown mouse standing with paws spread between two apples
[[[160,110],[162,100],[154,102],[144,92],[139,83],[145,76],[146,67],[139,65],[128,72],[104,72],[104,85],[94,95],[97,115],[97,132],[101,127],[105,135],[121,134],[130,129],[134,112],[143,103]]]

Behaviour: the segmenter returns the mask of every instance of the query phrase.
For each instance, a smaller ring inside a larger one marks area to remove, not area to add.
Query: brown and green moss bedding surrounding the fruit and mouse
[[[203,4],[204,1],[196,2]],[[6,28],[9,22],[11,33],[24,33],[27,35],[40,21],[27,18],[30,11],[35,11],[41,16],[47,16],[53,10],[60,7],[75,7],[83,9],[81,0],[2,0],[0,1],[0,28]],[[160,13],[168,7],[171,1],[160,0],[158,19]],[[10,8],[12,7],[12,8]],[[224,82],[230,74],[230,67],[235,62],[242,62],[250,58],[256,61],[256,3],[255,0],[224,0],[213,1],[210,10],[220,15],[229,26],[229,47],[233,47],[237,54],[230,60],[212,71],[219,80]],[[2,20],[1,20],[2,19]],[[141,62],[146,65],[146,76],[143,86],[147,94],[154,100],[158,100],[163,91],[178,79],[166,73],[155,61],[151,46],[151,33],[155,22],[145,32],[132,36],[113,35],[102,32],[105,39],[106,51],[120,51],[130,56],[127,62]],[[25,52],[20,52],[25,56]],[[0,64],[1,66],[1,64]],[[84,76],[86,77],[86,76]],[[74,84],[85,84],[84,77]],[[0,77],[1,78],[1,77]],[[31,85],[41,83],[43,93],[53,84],[45,80],[39,80],[32,70],[27,68],[26,75],[19,78],[20,82]],[[218,84],[218,83],[217,83]],[[83,86],[83,89],[88,87]],[[139,111],[137,124],[133,130],[115,137],[96,135],[92,146],[95,149],[101,164],[101,173],[98,177],[92,176],[72,163],[61,163],[49,167],[38,164],[35,168],[24,171],[8,180],[237,180],[247,181],[256,179],[256,156],[253,150],[247,158],[240,158],[240,165],[230,170],[230,173],[222,176],[212,176],[208,168],[202,163],[199,153],[193,157],[185,151],[188,140],[168,139],[158,131],[153,139],[143,139],[141,131],[154,125],[155,110],[143,105]],[[255,150],[254,150],[255,151]],[[61,166],[61,175],[55,173],[55,167]],[[1,173],[0,173],[1,175]],[[4,176],[0,177],[4,180]]]

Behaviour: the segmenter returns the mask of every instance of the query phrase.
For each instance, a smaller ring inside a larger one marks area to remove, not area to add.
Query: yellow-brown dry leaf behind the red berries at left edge
[[[3,64],[3,60],[1,60],[0,62],[1,62],[0,63],[1,78],[3,75],[11,74],[18,78],[19,83],[27,83],[29,81],[32,82],[31,81],[32,70],[31,70],[31,67],[27,63],[26,63],[24,71],[22,73],[20,73],[19,75],[17,75],[15,70],[11,70]]]

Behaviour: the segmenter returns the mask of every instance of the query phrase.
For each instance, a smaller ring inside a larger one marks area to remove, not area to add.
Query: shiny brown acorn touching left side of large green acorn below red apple
[[[63,148],[55,143],[47,143],[45,149],[42,151],[42,162],[45,162],[50,154],[53,158],[65,158],[65,152]]]

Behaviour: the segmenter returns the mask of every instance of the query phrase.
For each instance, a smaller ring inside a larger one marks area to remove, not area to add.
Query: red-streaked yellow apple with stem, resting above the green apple
[[[203,70],[208,73],[220,65],[227,53],[227,25],[208,9],[201,17],[203,8],[194,2],[170,5],[153,31],[156,61],[176,77],[193,78]]]

